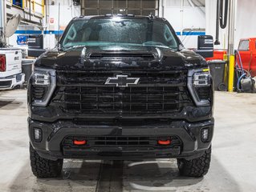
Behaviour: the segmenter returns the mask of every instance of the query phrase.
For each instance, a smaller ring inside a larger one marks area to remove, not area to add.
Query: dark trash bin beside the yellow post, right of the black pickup
[[[212,60],[208,64],[210,74],[213,77],[214,90],[227,90],[224,82],[226,61]]]

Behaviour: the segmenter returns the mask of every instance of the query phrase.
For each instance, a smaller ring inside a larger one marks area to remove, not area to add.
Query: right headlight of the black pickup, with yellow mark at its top
[[[209,69],[189,70],[189,92],[197,106],[209,106],[213,99],[212,77]]]

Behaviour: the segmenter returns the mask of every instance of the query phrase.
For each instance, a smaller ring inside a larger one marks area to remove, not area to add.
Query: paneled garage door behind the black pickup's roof
[[[158,16],[158,0],[81,0],[81,14],[135,14]]]

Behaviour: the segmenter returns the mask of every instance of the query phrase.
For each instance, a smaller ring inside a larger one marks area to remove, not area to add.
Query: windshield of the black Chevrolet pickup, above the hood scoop
[[[103,18],[71,24],[61,42],[74,46],[164,46],[177,50],[177,39],[165,22],[152,19]]]

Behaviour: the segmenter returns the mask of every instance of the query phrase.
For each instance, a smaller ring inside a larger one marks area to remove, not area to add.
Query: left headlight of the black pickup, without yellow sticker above
[[[30,83],[32,105],[47,106],[56,87],[55,70],[35,68]]]

